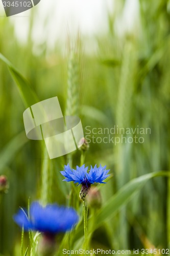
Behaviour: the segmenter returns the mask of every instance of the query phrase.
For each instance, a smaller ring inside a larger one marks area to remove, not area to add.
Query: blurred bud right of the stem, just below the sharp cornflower
[[[91,187],[87,195],[87,203],[89,207],[100,208],[102,206],[102,197],[100,190],[96,187]]]

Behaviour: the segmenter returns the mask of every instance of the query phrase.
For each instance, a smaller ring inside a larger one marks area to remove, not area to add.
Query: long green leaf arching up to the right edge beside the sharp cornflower
[[[123,186],[122,189],[113,195],[96,214],[95,224],[93,225],[93,228],[89,230],[89,233],[100,227],[104,221],[112,218],[123,205],[128,203],[128,201],[144,186],[148,180],[158,176],[170,176],[170,172],[162,171],[143,175],[131,180],[125,186]],[[88,219],[88,222],[90,221],[91,217]],[[76,230],[75,239],[78,240],[82,234],[83,226],[81,225]]]

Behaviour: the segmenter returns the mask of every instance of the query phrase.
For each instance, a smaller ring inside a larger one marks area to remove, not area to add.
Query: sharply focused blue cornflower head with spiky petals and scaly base
[[[91,184],[94,183],[106,183],[104,180],[109,176],[108,172],[110,169],[106,169],[106,166],[102,167],[100,164],[99,167],[95,166],[90,168],[85,167],[83,164],[81,167],[76,166],[76,169],[71,169],[69,164],[64,165],[64,170],[60,173],[65,177],[63,181],[74,181],[74,183],[82,184],[80,191],[80,198],[84,201],[86,195],[90,189]]]

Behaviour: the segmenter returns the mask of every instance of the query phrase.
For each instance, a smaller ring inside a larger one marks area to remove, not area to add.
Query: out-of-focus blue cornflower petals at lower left
[[[73,208],[57,204],[43,207],[38,202],[33,202],[30,206],[30,219],[23,209],[20,209],[13,218],[26,231],[35,230],[52,236],[70,230],[78,222],[77,212]]]

